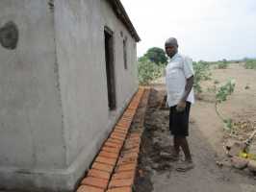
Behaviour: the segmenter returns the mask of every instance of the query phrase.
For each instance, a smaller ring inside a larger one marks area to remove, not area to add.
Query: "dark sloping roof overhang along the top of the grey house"
[[[113,10],[118,19],[122,21],[127,30],[130,32],[131,36],[135,38],[137,42],[141,40],[140,36],[136,32],[127,12],[124,10],[120,0],[107,0],[113,7]]]

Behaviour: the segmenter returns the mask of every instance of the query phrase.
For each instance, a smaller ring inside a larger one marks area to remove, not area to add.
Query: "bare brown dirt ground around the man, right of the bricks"
[[[168,131],[168,110],[158,108],[165,94],[164,79],[152,84],[146,110],[136,192],[256,192],[256,177],[248,170],[218,167],[224,158],[223,142],[228,134],[215,111],[214,93],[209,87],[229,78],[236,80],[235,92],[219,105],[219,111],[236,122],[256,122],[256,70],[232,64],[213,69],[212,80],[203,83],[200,100],[192,106],[189,142],[195,167],[177,172],[177,163],[167,158],[172,138]],[[249,131],[240,132],[242,139]],[[240,136],[240,135],[237,135]],[[255,145],[255,140],[253,145]]]

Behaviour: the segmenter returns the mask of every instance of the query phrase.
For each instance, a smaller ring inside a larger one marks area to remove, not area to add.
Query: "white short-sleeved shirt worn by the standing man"
[[[192,59],[175,54],[166,65],[166,92],[169,107],[177,105],[185,91],[187,79],[194,74],[192,69]],[[194,103],[193,88],[187,101]]]

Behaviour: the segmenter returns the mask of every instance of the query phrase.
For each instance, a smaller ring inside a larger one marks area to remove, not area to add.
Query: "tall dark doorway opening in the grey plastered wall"
[[[114,64],[114,36],[113,32],[105,27],[105,59],[108,84],[108,101],[110,110],[116,108],[115,104],[115,64]]]

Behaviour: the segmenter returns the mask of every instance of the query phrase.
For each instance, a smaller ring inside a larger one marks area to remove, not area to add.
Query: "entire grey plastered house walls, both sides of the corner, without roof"
[[[0,187],[72,191],[138,89],[136,41],[106,0],[2,0],[0,27],[10,19],[20,36],[15,50],[0,46]],[[114,111],[105,26],[115,38]]]

